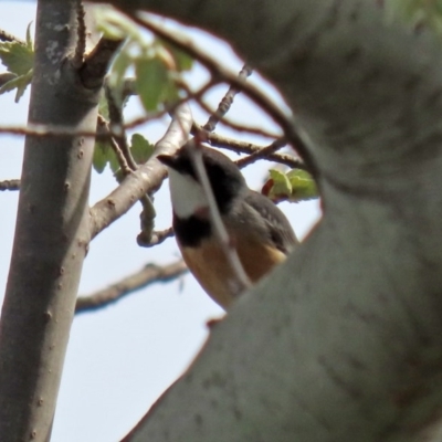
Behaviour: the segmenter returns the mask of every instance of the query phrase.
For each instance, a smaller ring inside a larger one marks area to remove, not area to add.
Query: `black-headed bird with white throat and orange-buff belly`
[[[238,297],[235,281],[210,221],[209,202],[191,160],[190,144],[157,158],[167,166],[172,228],[190,272],[208,295],[228,311]],[[252,283],[283,262],[298,240],[285,214],[265,196],[253,191],[238,166],[224,154],[201,145],[202,161],[221,220]]]

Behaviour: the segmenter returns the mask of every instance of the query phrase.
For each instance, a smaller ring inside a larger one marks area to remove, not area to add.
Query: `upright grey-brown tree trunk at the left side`
[[[92,131],[96,90],[67,56],[77,1],[41,0],[29,122]],[[90,242],[94,140],[28,137],[0,324],[0,439],[49,441],[75,297]]]

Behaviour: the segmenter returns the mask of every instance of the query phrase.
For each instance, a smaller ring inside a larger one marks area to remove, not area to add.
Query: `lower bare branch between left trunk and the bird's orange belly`
[[[148,264],[139,272],[126,276],[107,288],[88,296],[80,296],[76,301],[75,313],[78,314],[103,308],[149,284],[170,282],[186,272],[187,266],[182,260],[165,266]]]

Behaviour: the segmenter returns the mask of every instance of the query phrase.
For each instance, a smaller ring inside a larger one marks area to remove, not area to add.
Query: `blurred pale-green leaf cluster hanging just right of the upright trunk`
[[[123,108],[129,95],[137,95],[147,113],[164,110],[180,98],[179,75],[192,67],[193,60],[173,45],[152,38],[146,39],[127,15],[110,8],[96,10],[98,30],[108,39],[125,40],[116,54],[107,78],[115,104]],[[127,91],[129,74],[135,73],[134,91]],[[99,114],[108,118],[108,103],[103,96]],[[134,134],[130,152],[137,164],[143,164],[152,154],[154,146],[140,134]],[[108,141],[97,141],[94,168],[102,172],[106,165],[120,178],[119,165]]]

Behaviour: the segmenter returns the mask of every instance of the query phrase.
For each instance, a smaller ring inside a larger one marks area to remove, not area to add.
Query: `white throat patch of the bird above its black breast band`
[[[208,208],[204,189],[190,175],[181,175],[168,167],[170,198],[179,218],[189,218],[200,209]]]

